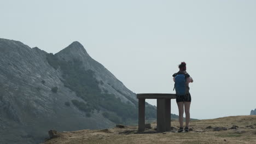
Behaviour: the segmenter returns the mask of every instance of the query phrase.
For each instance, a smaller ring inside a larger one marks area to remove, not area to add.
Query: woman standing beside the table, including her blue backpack
[[[186,115],[186,125],[185,131],[189,131],[189,119],[190,119],[190,103],[191,103],[191,95],[189,93],[189,83],[193,82],[192,77],[187,73],[186,63],[182,62],[179,64],[178,73],[173,74],[173,81],[175,82],[174,88],[176,89],[176,102],[179,109],[179,130],[181,133],[183,131],[183,113],[185,108]]]

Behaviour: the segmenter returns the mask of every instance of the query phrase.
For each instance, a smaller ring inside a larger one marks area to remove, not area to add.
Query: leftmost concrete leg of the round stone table
[[[145,130],[145,99],[138,99],[138,131]]]

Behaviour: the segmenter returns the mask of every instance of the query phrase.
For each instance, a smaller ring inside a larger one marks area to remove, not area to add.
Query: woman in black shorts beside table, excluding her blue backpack
[[[185,77],[185,94],[182,95],[178,95],[177,94],[177,88],[176,88],[176,102],[178,105],[178,109],[179,109],[179,130],[178,132],[181,133],[183,131],[183,113],[184,113],[184,108],[185,108],[185,115],[186,115],[186,125],[185,125],[185,131],[188,132],[189,131],[189,119],[190,119],[190,113],[189,113],[189,109],[190,109],[190,103],[191,103],[191,95],[189,93],[189,83],[193,82],[192,77],[187,73],[187,68],[186,68],[186,63],[182,62],[181,64],[179,64],[179,71],[178,73],[173,74],[173,81],[175,82],[175,80],[177,79],[178,75],[182,75]]]

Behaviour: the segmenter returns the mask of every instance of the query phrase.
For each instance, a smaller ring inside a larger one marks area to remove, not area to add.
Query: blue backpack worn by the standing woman
[[[184,74],[179,74],[174,77],[174,89],[176,90],[176,95],[185,95],[187,94],[187,87],[186,87],[186,78]]]

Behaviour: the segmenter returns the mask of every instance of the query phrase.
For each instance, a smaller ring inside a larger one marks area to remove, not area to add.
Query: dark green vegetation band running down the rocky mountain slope
[[[86,112],[86,116],[90,116],[90,113],[96,110],[97,112],[104,111],[103,116],[114,123],[137,122],[138,104],[136,101],[131,99],[132,103],[136,105],[135,107],[130,103],[122,103],[120,98],[113,94],[102,93],[98,87],[100,82],[95,79],[94,71],[85,70],[81,61],[77,59],[69,62],[61,61],[53,53],[49,53],[46,58],[53,68],[62,71],[65,86],[86,102],[72,100],[79,110]],[[146,105],[146,118],[156,118],[154,107],[148,104]]]

